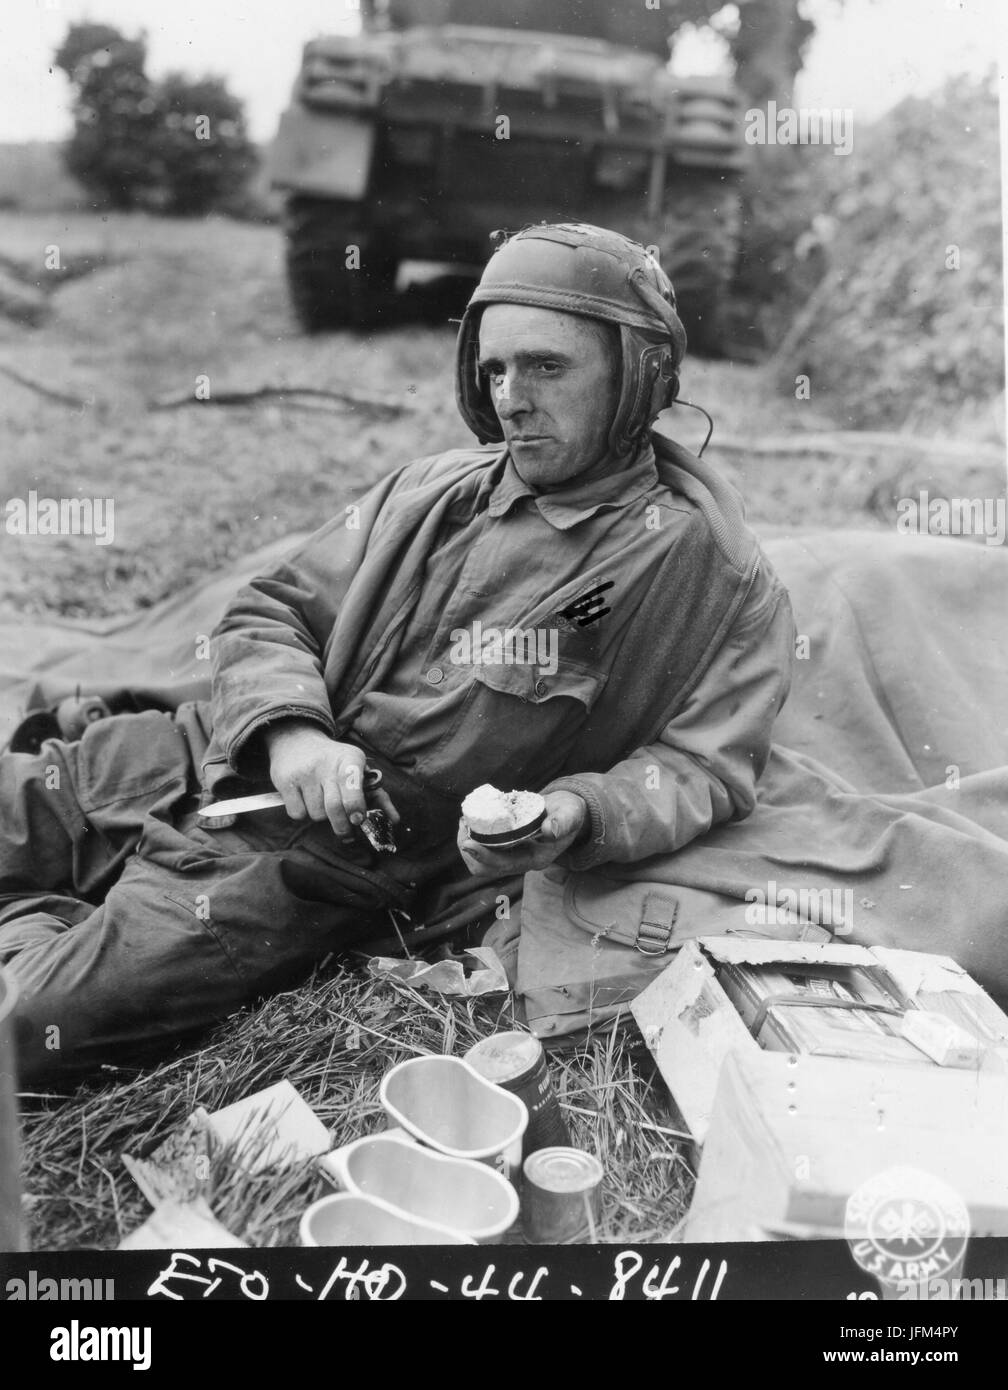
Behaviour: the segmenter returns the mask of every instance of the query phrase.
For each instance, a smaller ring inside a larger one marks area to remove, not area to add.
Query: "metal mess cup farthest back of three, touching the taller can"
[[[413,1056],[385,1073],[381,1104],[393,1123],[450,1158],[471,1158],[514,1182],[528,1108],[457,1056]]]

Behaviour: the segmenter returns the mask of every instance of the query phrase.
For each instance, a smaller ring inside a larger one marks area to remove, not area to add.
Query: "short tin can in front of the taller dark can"
[[[602,1165],[583,1148],[541,1148],[523,1166],[521,1218],[534,1245],[598,1240]]]

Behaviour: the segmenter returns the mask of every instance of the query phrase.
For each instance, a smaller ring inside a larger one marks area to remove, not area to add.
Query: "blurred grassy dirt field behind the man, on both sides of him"
[[[60,247],[63,275],[43,270],[50,246]],[[49,289],[40,327],[0,317],[0,370],[81,402],[3,381],[0,500],[35,489],[115,502],[113,545],[4,535],[0,603],[64,616],[131,612],[274,537],[320,524],[389,467],[470,439],[453,406],[450,325],[303,336],[274,227],[0,213],[0,247],[8,270]],[[444,306],[445,318],[460,299]],[[195,400],[199,377],[209,378],[207,402]],[[815,382],[809,400],[767,382],[751,366],[691,359],[683,378],[684,396],[717,424],[708,456],[740,484],[758,528],[891,527],[893,498],[918,486],[945,495],[1004,486],[990,446],[982,463],[927,460],[912,445],[779,455],[773,441],[794,446],[843,427],[844,402]],[[267,386],[349,386],[402,414],[214,403],[227,391]],[[165,396],[190,403],[150,409]],[[673,423],[685,445],[704,438],[695,411],[677,410]],[[991,420],[975,425],[979,438],[997,430]],[[767,441],[769,452],[747,455]]]

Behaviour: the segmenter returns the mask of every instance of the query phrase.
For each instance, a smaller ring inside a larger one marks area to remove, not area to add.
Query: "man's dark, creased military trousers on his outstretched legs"
[[[118,714],[0,755],[0,965],[19,994],[22,1087],[149,1061],[389,935],[389,908],[457,870],[457,803],[370,751],[403,817],[395,855],[282,808],[207,828],[203,710]]]

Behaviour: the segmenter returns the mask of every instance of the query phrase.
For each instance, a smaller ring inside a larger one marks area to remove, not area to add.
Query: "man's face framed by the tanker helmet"
[[[488,304],[480,370],[519,477],[548,492],[605,459],[620,392],[615,332],[553,309]]]

